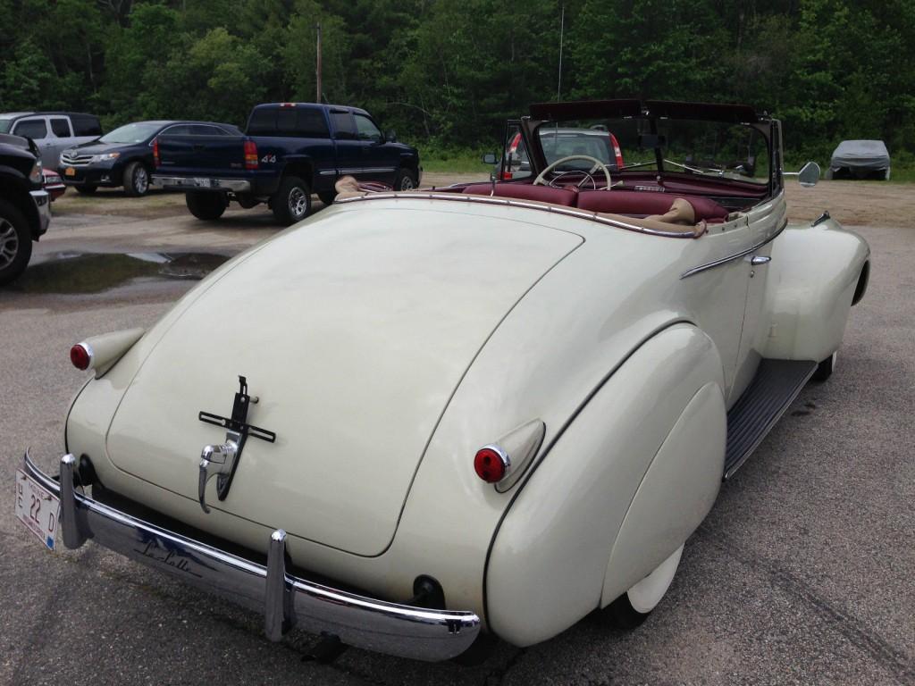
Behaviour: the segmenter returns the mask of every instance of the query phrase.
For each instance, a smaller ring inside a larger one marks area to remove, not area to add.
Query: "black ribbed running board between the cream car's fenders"
[[[727,412],[725,475],[732,477],[816,371],[816,362],[763,359],[747,390]]]

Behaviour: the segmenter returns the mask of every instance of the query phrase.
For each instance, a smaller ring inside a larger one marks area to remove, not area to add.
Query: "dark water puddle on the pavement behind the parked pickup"
[[[199,281],[231,259],[210,252],[59,252],[28,266],[10,291],[90,294],[137,281]]]

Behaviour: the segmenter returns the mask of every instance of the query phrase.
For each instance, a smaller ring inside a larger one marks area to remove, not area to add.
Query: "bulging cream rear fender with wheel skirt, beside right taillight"
[[[647,575],[659,556],[684,542],[720,484],[723,387],[715,345],[692,325],[669,327],[630,355],[535,466],[495,534],[485,582],[493,631],[515,645],[531,645],[601,605],[610,552],[646,475],[654,484],[690,473],[667,489],[667,503],[657,503],[658,488],[650,493],[646,487],[639,511],[662,511],[638,522],[651,550],[635,552],[632,573]],[[694,420],[702,424],[693,426]],[[693,445],[697,436],[704,449]],[[681,457],[675,447],[684,437],[692,443],[683,461],[669,466]],[[659,455],[663,468],[652,466]],[[665,509],[688,517],[665,531]]]

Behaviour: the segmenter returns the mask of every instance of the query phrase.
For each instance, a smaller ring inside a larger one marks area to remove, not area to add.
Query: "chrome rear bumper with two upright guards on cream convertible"
[[[267,638],[293,627],[332,635],[358,648],[412,659],[453,658],[479,634],[472,612],[387,603],[338,591],[285,571],[285,531],[270,536],[267,566],[193,541],[82,495],[74,488],[76,458],[60,460],[60,480],[44,474],[26,453],[24,469],[60,498],[63,542],[74,550],[96,543],[161,572],[264,613]]]

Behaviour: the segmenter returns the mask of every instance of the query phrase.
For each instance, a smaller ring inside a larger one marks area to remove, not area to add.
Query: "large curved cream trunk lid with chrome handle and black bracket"
[[[116,466],[196,499],[200,451],[225,438],[199,413],[230,416],[243,375],[257,401],[247,421],[276,442],[250,438],[224,501],[210,481],[210,506],[341,550],[383,552],[468,365],[582,239],[372,204],[281,234],[170,325],[113,418]]]

